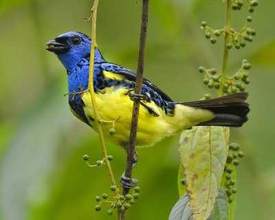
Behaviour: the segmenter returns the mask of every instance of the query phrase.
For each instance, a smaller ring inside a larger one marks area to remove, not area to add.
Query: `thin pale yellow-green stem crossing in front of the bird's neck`
[[[93,8],[91,8],[91,13],[92,13],[91,14],[91,56],[90,56],[90,65],[89,65],[89,92],[91,94],[91,102],[93,104],[94,114],[96,117],[96,127],[98,129],[98,135],[100,138],[100,145],[101,145],[104,162],[106,164],[106,167],[109,173],[111,184],[113,186],[116,186],[115,178],[113,177],[113,171],[111,170],[111,164],[107,159],[107,156],[108,156],[107,149],[104,143],[102,127],[100,125],[101,119],[98,112],[98,107],[96,105],[96,96],[94,93],[94,55],[95,55],[96,49],[98,49],[98,45],[96,44],[96,16],[98,12],[98,1],[99,0],[95,0]],[[118,199],[118,196],[119,196],[119,191],[115,190],[115,197],[117,197],[117,199]],[[118,211],[118,220],[120,220],[121,219],[120,210],[117,209],[117,211]]]

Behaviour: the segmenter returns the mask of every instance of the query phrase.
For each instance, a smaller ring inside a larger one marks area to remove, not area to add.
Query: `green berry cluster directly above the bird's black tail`
[[[238,91],[245,91],[245,85],[250,83],[248,78],[248,70],[251,68],[251,64],[247,60],[243,60],[241,69],[236,74],[229,77],[226,76],[225,82],[223,82],[223,91],[225,94],[235,94]],[[208,88],[219,89],[221,85],[221,74],[217,74],[217,70],[206,69],[205,67],[199,67],[199,72],[204,73],[203,83]],[[204,96],[205,99],[210,98],[210,94]]]

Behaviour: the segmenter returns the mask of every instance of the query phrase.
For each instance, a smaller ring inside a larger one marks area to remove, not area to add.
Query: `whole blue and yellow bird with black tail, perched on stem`
[[[46,43],[46,50],[54,52],[67,70],[69,108],[79,120],[96,131],[96,121],[88,89],[91,39],[80,32],[67,32]],[[104,138],[127,152],[131,130],[133,94],[136,74],[131,69],[104,60],[100,50],[94,55],[94,92]],[[140,114],[137,124],[136,146],[151,146],[164,137],[175,135],[192,126],[242,126],[248,120],[248,93],[175,102],[151,81],[143,78]],[[112,131],[112,132],[110,132]],[[138,155],[135,151],[134,164]],[[137,179],[120,182],[133,187]]]

